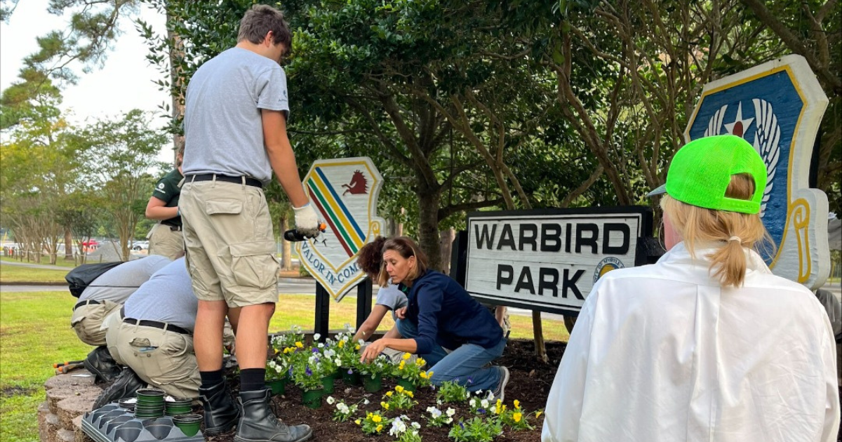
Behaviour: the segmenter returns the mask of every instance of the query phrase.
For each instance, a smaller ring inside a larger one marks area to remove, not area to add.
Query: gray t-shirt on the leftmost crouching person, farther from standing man
[[[93,280],[79,296],[79,301],[111,301],[122,304],[141,284],[171,261],[160,255],[150,255],[118,265]]]

